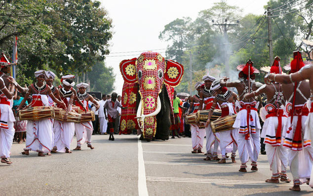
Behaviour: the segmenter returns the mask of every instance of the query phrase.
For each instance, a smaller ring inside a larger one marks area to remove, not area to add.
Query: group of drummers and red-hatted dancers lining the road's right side
[[[255,81],[254,73],[259,71],[251,61],[237,67],[240,72],[239,79],[235,81],[203,76],[203,81],[196,83],[198,93],[192,97],[187,114],[198,110],[209,112],[204,126],[191,124],[192,153],[202,153],[203,138],[206,136],[204,160],[226,163],[227,153],[232,153],[232,162],[236,162],[235,153],[238,150],[241,161],[239,172],[247,172],[249,159],[251,170],[257,171],[262,137],[273,172],[266,182],[290,182],[286,174],[289,164],[294,183],[290,190],[300,191],[302,183],[313,187],[313,180],[310,181],[313,162],[313,65],[305,65],[301,53],[296,51],[289,74],[284,75],[279,60],[276,57],[272,67],[268,67],[265,84]],[[235,88],[237,94],[231,88]],[[258,113],[260,95],[266,95],[267,103]],[[219,119],[234,121],[229,130],[212,131],[210,118],[216,109],[221,110]],[[264,120],[263,127],[259,115]],[[220,158],[218,154],[221,154]]]

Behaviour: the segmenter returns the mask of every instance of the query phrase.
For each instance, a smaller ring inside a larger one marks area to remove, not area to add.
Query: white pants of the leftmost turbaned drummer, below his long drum
[[[27,121],[26,129],[26,148],[42,153],[49,153],[52,149],[52,120],[43,119],[39,121]]]

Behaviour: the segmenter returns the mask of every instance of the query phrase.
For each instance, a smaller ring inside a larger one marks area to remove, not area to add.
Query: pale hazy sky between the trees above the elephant
[[[168,43],[158,39],[164,26],[176,18],[196,19],[199,11],[210,8],[214,2],[220,2],[220,0],[99,1],[113,20],[114,34],[110,41],[110,54],[106,56],[105,63],[114,68],[115,91],[120,95],[124,82],[119,72],[119,63],[122,60],[138,57],[141,51],[154,51],[155,49],[163,49],[156,51],[165,57],[165,48]],[[242,8],[241,14],[246,15],[248,13],[263,14],[264,5],[268,0],[226,0],[226,2]]]

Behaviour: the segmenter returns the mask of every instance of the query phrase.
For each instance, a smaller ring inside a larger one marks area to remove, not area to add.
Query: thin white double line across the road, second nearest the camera
[[[235,167],[239,168],[239,164],[218,164],[217,162],[212,163],[188,163],[188,162],[162,162],[162,161],[149,161],[146,160],[145,164],[158,164],[158,165],[183,165],[183,166],[205,166],[205,167]],[[249,164],[247,164],[249,166]],[[258,165],[258,168],[269,169],[269,165]]]

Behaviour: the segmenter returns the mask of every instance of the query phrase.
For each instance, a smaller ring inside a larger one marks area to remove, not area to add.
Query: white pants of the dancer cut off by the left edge
[[[8,129],[0,128],[0,157],[9,158],[14,137],[13,122],[8,122]]]

